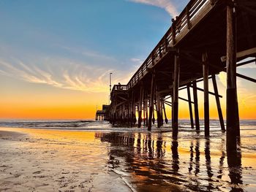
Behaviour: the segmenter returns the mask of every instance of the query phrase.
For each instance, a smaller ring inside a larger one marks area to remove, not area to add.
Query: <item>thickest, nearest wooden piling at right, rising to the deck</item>
[[[233,2],[232,2],[233,3]],[[236,9],[227,5],[227,151],[235,151],[240,135],[236,89]]]

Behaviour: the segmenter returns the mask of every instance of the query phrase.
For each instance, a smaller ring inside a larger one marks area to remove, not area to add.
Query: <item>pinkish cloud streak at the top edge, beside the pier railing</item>
[[[150,4],[155,7],[160,7],[162,9],[165,9],[168,14],[175,18],[178,15],[178,11],[172,1],[169,0],[129,0],[135,3],[140,3],[140,4]]]

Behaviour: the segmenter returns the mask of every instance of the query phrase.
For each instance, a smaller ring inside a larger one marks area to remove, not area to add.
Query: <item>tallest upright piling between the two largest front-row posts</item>
[[[204,124],[205,124],[205,137],[210,136],[210,123],[209,123],[209,86],[208,86],[208,55],[203,53],[203,93],[204,93]]]

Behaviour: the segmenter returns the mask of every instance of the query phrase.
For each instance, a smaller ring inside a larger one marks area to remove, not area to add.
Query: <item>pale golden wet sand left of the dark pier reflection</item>
[[[0,191],[131,191],[94,133],[13,129],[0,128]]]

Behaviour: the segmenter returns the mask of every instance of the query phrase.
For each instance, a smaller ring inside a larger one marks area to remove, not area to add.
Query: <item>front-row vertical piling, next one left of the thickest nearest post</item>
[[[178,137],[178,84],[180,71],[180,58],[177,52],[174,57],[174,78],[173,78],[173,138]]]

